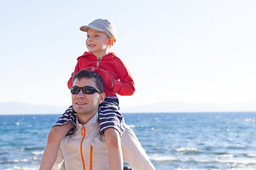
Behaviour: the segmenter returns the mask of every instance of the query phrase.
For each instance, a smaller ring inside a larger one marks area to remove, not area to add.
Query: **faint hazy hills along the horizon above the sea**
[[[0,115],[6,114],[62,114],[67,106],[31,105],[28,103],[0,103]],[[179,113],[179,112],[256,112],[256,103],[213,103],[165,102],[136,107],[120,107],[122,113]]]

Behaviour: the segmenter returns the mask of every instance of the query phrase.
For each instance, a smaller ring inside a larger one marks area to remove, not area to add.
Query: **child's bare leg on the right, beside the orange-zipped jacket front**
[[[114,128],[108,128],[104,131],[104,135],[109,152],[110,169],[122,170],[123,157],[119,132]]]

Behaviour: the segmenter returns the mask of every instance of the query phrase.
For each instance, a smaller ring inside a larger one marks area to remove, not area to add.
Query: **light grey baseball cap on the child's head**
[[[80,30],[87,32],[88,28],[105,32],[109,37],[114,38],[114,42],[117,41],[117,29],[114,24],[107,19],[96,19],[95,21],[92,21],[92,23],[89,23],[88,26],[81,26]]]

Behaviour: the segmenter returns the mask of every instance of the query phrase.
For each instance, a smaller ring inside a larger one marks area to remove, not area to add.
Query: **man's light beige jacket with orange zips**
[[[77,122],[75,134],[60,143],[53,170],[110,170],[107,145],[100,135],[98,113],[85,125]],[[121,137],[124,161],[132,170],[155,170],[134,132],[126,125]]]

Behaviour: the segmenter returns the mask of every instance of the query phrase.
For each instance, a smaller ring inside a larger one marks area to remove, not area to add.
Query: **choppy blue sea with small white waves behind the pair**
[[[38,169],[59,115],[0,115],[0,169]],[[131,113],[158,170],[256,169],[256,113]]]

